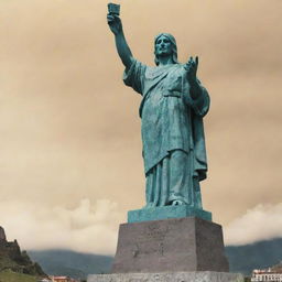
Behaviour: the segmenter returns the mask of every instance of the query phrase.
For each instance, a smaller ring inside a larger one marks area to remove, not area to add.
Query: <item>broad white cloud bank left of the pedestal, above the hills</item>
[[[1,203],[0,214],[9,240],[17,239],[28,250],[63,248],[112,254],[122,221],[117,204],[108,199],[91,205],[85,198],[74,208],[9,202]]]

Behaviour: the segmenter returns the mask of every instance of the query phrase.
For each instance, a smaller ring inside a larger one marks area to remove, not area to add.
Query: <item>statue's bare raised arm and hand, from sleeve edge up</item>
[[[111,32],[115,34],[116,46],[117,46],[118,54],[121,58],[121,62],[126,66],[126,68],[130,68],[133,62],[133,56],[128,46],[123,30],[122,30],[121,20],[118,14],[109,12],[107,14],[107,21]]]

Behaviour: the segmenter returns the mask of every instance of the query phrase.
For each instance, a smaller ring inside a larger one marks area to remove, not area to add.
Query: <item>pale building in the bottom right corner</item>
[[[282,282],[281,263],[269,269],[254,269],[251,275],[251,282]]]

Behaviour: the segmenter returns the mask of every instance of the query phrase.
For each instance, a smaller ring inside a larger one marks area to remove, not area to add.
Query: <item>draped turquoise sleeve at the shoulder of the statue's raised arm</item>
[[[145,65],[134,59],[130,68],[123,73],[124,84],[141,95],[143,95],[144,89],[145,68]]]

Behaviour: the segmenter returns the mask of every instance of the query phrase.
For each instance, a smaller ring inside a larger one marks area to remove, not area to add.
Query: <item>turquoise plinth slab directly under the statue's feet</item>
[[[187,205],[181,205],[129,210],[128,223],[141,223],[192,216],[212,221],[212,213],[204,209],[189,207]]]

